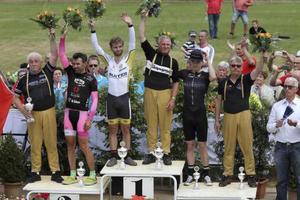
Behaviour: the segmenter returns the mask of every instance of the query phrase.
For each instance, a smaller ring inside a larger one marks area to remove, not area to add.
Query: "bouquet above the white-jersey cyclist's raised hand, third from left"
[[[105,11],[105,5],[102,0],[87,0],[84,12],[90,19],[102,17]]]

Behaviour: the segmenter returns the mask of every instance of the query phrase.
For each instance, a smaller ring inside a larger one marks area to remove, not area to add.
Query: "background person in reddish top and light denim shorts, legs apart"
[[[232,0],[233,3],[233,16],[231,21],[231,27],[229,32],[229,37],[234,36],[235,24],[238,19],[241,17],[244,24],[244,34],[243,36],[247,36],[248,33],[248,8],[252,6],[253,0]]]

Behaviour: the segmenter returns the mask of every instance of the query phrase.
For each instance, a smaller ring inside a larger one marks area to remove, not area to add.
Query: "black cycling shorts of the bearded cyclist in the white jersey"
[[[121,123],[122,120],[130,122],[131,106],[129,93],[118,97],[108,94],[106,100],[106,114],[109,124],[115,124],[119,122],[119,120],[121,120]]]

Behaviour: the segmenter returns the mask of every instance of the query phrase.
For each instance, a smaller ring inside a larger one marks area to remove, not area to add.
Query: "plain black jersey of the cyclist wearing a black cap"
[[[184,108],[189,110],[205,109],[204,97],[208,90],[209,73],[200,71],[193,73],[191,70],[180,70],[178,78],[184,85]]]

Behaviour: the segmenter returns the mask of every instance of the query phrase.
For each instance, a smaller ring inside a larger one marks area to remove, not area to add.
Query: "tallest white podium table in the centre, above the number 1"
[[[125,169],[120,169],[118,164],[113,167],[107,167],[106,165],[101,170],[100,174],[100,188],[104,187],[104,180],[107,177],[166,177],[171,178],[174,181],[174,200],[177,197],[177,180],[175,176],[180,177],[180,183],[182,183],[182,170],[184,167],[184,161],[172,161],[172,165],[163,165],[162,169],[155,169],[155,163],[149,165],[143,165],[141,160],[136,160],[137,166],[126,165]],[[100,194],[100,200],[103,200],[103,193]]]

